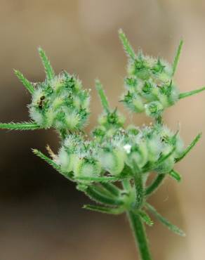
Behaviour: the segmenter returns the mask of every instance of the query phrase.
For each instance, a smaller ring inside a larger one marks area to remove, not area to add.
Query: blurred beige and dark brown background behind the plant
[[[123,91],[126,56],[117,36],[121,27],[135,48],[172,61],[181,38],[185,45],[176,82],[181,91],[205,84],[204,0],[1,0],[0,121],[28,119],[30,97],[13,75],[44,79],[37,47],[46,50],[56,72],[75,72],[92,89],[92,127],[101,112],[93,82],[98,77],[110,103]],[[141,125],[143,115],[127,121]],[[205,132],[205,93],[181,100],[166,113],[187,145]],[[89,131],[89,128],[87,129]],[[124,216],[86,212],[88,200],[30,148],[58,150],[54,131],[0,131],[0,259],[137,260]],[[187,233],[180,238],[156,221],[147,228],[156,260],[205,259],[205,138],[177,169],[183,182],[167,179],[154,194],[155,207]]]

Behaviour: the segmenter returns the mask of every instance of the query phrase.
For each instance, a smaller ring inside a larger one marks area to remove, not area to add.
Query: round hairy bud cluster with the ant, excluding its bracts
[[[61,72],[53,79],[37,84],[29,114],[42,128],[53,127],[68,133],[86,124],[89,101],[89,91],[82,89],[80,80]]]

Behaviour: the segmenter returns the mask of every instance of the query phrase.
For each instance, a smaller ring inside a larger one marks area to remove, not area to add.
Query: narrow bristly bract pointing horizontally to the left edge
[[[41,129],[41,126],[34,122],[20,122],[20,123],[0,123],[0,129],[8,130],[36,130]]]

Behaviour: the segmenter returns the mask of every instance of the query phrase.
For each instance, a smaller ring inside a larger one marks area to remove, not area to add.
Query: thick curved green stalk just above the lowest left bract
[[[106,193],[100,192],[98,188],[95,186],[88,186],[85,190],[86,195],[94,200],[95,202],[99,202],[101,204],[109,204],[114,206],[119,206],[124,204],[122,200],[115,199],[112,196],[108,196]]]

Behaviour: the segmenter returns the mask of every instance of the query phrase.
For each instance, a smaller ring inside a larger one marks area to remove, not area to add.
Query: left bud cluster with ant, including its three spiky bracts
[[[56,129],[62,138],[70,131],[81,130],[90,114],[90,90],[84,90],[81,81],[66,71],[55,75],[46,53],[39,48],[39,54],[46,72],[44,82],[29,82],[21,72],[15,74],[32,95],[28,105],[31,122],[1,124],[1,128],[34,130]]]

